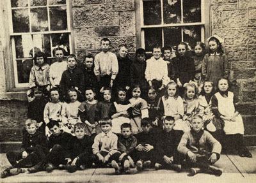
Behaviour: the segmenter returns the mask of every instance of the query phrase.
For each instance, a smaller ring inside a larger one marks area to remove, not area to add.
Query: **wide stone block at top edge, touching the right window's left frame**
[[[106,11],[134,10],[134,0],[106,0]]]

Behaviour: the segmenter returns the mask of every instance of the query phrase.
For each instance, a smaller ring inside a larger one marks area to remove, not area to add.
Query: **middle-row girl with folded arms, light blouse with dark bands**
[[[131,108],[128,109],[128,112],[131,117],[132,133],[137,134],[141,131],[141,119],[148,117],[148,105],[145,99],[140,98],[140,85],[132,86],[131,92],[132,98],[129,99]]]

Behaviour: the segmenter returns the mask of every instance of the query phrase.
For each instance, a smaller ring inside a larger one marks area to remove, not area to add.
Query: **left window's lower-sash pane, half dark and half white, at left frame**
[[[33,57],[31,35],[15,36],[14,41],[17,59]]]

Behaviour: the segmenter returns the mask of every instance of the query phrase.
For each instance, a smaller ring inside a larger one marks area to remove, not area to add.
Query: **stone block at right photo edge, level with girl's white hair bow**
[[[234,45],[256,45],[256,29],[234,29]]]

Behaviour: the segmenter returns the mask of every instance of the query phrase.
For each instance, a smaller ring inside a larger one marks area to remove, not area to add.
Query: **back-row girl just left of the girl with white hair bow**
[[[202,42],[196,42],[194,52],[195,55],[192,57],[192,59],[195,61],[195,76],[193,80],[197,83],[198,92],[200,93],[204,83],[202,80],[202,62],[205,55],[205,44]]]

